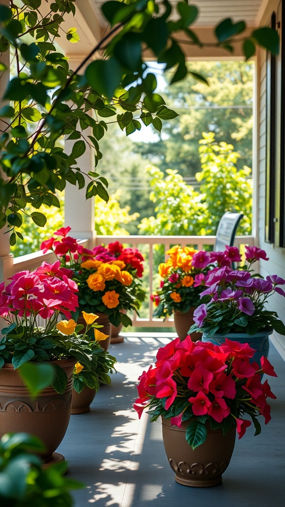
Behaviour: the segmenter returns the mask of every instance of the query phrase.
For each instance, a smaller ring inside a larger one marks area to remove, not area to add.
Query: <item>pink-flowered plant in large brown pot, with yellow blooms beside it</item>
[[[70,318],[78,306],[78,287],[69,274],[59,261],[43,263],[32,272],[16,273],[6,288],[4,283],[0,286],[0,316],[8,324],[0,340],[1,434],[29,432],[33,427],[47,446],[46,460],[51,459],[67,428],[77,361],[84,368],[80,382],[74,384],[78,391],[85,384],[97,387],[98,381],[106,382],[97,369],[99,357],[108,370],[115,362],[107,353],[102,357],[98,340],[90,342],[87,337],[91,328],[98,328],[96,316],[85,315],[83,334],[79,333],[82,327]],[[60,315],[66,320],[58,322]],[[54,380],[33,398],[18,368],[46,361],[53,366]]]

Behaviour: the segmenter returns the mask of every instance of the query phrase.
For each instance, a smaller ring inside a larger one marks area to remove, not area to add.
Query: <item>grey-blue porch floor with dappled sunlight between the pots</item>
[[[278,375],[269,384],[272,419],[254,437],[253,425],[241,440],[223,474],[210,488],[177,484],[167,462],[161,423],[139,421],[132,403],[137,378],[154,363],[157,349],[175,334],[123,333],[123,343],[111,345],[117,357],[112,385],[102,386],[91,412],[70,417],[58,448],[68,461],[68,477],[86,487],[73,491],[75,507],[284,507],[285,505],[285,365],[270,343],[269,359]],[[265,377],[267,378],[267,377]]]

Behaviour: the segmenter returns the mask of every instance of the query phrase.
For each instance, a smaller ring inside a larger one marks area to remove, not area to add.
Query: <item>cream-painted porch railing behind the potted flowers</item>
[[[156,319],[153,314],[153,303],[150,295],[153,293],[158,281],[157,267],[159,262],[167,258],[166,251],[173,245],[180,244],[184,246],[193,246],[197,250],[212,249],[215,244],[216,236],[97,236],[96,245],[109,244],[113,241],[120,241],[126,246],[137,248],[145,257],[145,273],[142,282],[147,290],[148,303],[142,309],[144,315],[138,317],[135,313],[132,321],[133,326],[150,327],[171,327],[172,319]],[[88,240],[82,240],[81,243],[86,246]],[[254,245],[253,236],[237,236],[235,246]],[[30,253],[28,255],[14,259],[14,273],[23,270],[33,270],[40,266],[43,261],[54,262],[53,252],[43,254],[41,251]]]

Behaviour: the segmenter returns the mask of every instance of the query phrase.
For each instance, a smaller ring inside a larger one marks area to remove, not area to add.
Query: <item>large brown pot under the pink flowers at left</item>
[[[41,454],[44,462],[64,460],[55,450],[61,443],[70,418],[73,370],[75,358],[51,361],[67,374],[66,389],[57,393],[46,387],[36,399],[31,399],[17,370],[6,364],[0,370],[0,438],[4,433],[26,432],[39,437],[46,446]]]

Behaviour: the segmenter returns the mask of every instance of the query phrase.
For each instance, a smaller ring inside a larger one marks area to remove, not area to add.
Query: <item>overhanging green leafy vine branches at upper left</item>
[[[143,121],[148,116],[147,122],[155,122],[154,127],[160,131],[161,120],[176,117],[164,99],[154,93],[155,80],[147,77],[148,65],[143,61],[142,51],[149,49],[155,60],[165,64],[166,70],[173,69],[174,83],[188,73],[184,53],[174,40],[176,33],[184,31],[191,44],[203,46],[190,29],[198,15],[196,7],[182,2],[172,7],[166,2],[165,12],[160,12],[155,0],[136,0],[131,4],[111,1],[102,7],[112,27],[110,32],[71,71],[66,57],[56,51],[54,40],[60,36],[65,14],[75,14],[74,0],[55,0],[44,17],[39,11],[42,0],[23,3],[23,9],[13,4],[12,9],[3,8],[0,12],[1,49],[7,51],[9,44],[14,48],[17,67],[4,95],[11,107],[13,104],[14,114],[12,110],[5,112],[12,116],[0,136],[0,165],[4,174],[0,179],[0,202],[4,208],[0,222],[2,226],[8,223],[13,231],[12,244],[17,239],[15,229],[21,230],[19,212],[27,203],[36,209],[42,204],[54,205],[56,190],[63,190],[66,182],[83,188],[77,159],[84,150],[84,141],[94,148],[94,167],[98,165],[102,158],[98,140],[107,130],[104,118],[115,116],[129,135],[140,129],[139,119]],[[175,21],[172,10],[176,11]],[[223,21],[216,27],[216,45],[231,50],[235,35],[244,29],[243,22]],[[75,27],[67,30],[66,38],[70,43],[78,41]],[[278,50],[276,32],[269,28],[266,33],[255,30],[244,40],[254,41],[274,53]],[[80,76],[84,64],[102,48],[103,56],[91,62],[84,76]],[[17,125],[21,128],[17,129]],[[86,139],[84,131],[88,127],[93,135]],[[78,140],[78,150],[67,155],[57,142],[63,135]],[[106,180],[94,171],[86,177],[89,179],[86,198],[99,195],[107,201]],[[43,215],[33,215],[33,219],[44,225]]]

